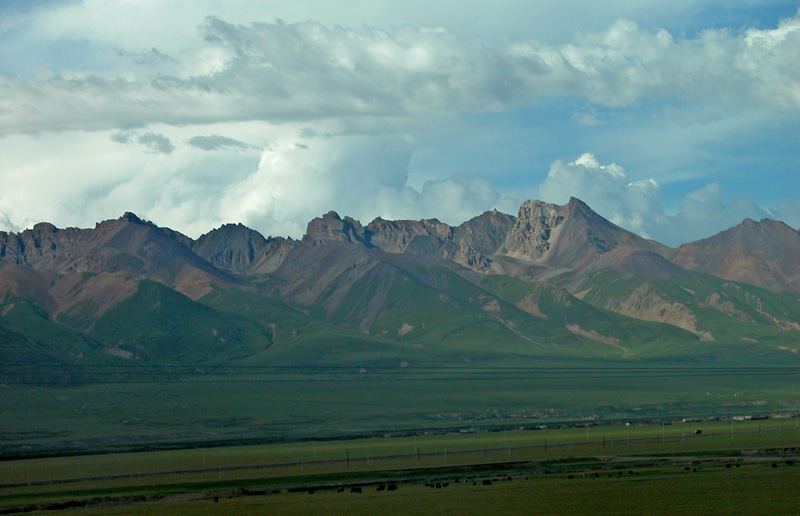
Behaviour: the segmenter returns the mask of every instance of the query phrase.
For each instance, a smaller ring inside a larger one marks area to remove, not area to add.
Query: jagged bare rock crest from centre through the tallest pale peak
[[[384,220],[366,227],[329,212],[308,225],[303,245],[357,243],[387,253],[435,256],[482,273],[547,277],[598,266],[622,272],[680,273],[664,260],[669,249],[626,231],[578,199],[559,206],[526,201],[517,217],[490,211],[457,227],[436,219]],[[600,261],[602,258],[602,261]],[[524,272],[523,272],[524,271]]]

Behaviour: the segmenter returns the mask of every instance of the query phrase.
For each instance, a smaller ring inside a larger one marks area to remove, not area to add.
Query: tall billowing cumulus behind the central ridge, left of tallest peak
[[[412,188],[410,157],[410,142],[398,136],[277,139],[262,152],[258,169],[228,189],[221,216],[298,237],[328,210],[364,223],[382,216],[458,224],[492,208],[519,207],[521,197],[501,195],[483,178],[455,176]]]

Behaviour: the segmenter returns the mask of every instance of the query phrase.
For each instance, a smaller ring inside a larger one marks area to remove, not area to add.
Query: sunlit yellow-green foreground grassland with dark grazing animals
[[[777,418],[51,457],[0,462],[0,511],[796,514],[798,451]]]

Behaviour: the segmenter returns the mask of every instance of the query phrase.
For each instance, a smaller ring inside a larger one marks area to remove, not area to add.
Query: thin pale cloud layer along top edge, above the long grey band
[[[34,8],[39,3],[25,3],[31,7],[28,14],[33,19],[29,23],[39,37],[91,39],[123,48],[156,47],[175,53],[195,37],[194,28],[209,14],[237,24],[282,19],[288,23],[315,20],[327,26],[441,26],[459,34],[536,34],[541,40],[563,41],[576,32],[602,30],[619,18],[685,20],[715,2],[573,0],[570,9],[552,0],[480,2],[468,7],[458,0],[82,0],[51,2],[55,5],[41,9]],[[752,0],[729,0],[726,8],[732,11],[751,4]],[[9,16],[3,14],[0,23]]]

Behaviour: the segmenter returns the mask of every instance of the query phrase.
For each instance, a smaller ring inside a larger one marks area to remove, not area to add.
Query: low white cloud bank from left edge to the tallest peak
[[[514,213],[523,200],[476,177],[408,186],[412,142],[404,136],[336,136],[330,127],[307,125],[217,129],[234,136],[262,134],[270,143],[213,153],[186,145],[165,154],[142,152],[139,140],[147,135],[136,132],[0,139],[0,154],[7,156],[0,167],[0,229],[41,221],[86,227],[133,211],[190,236],[242,222],[265,235],[300,237],[309,220],[328,210],[365,223],[380,215],[458,224],[492,208]],[[156,138],[154,145],[186,141],[198,127],[160,130],[165,134],[154,134],[164,140]],[[61,157],[73,148],[91,152],[64,162]]]

